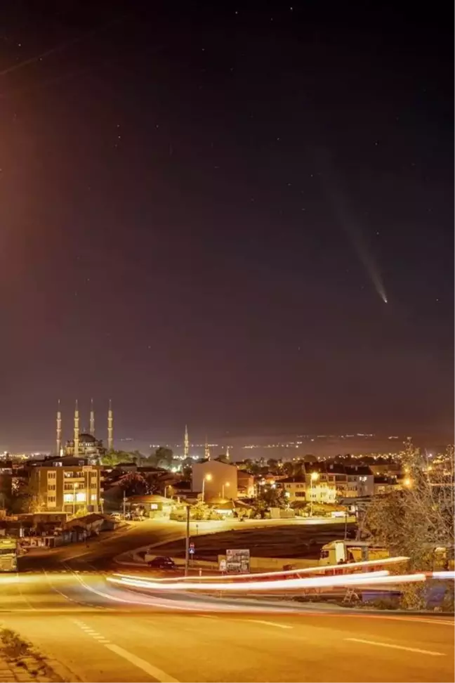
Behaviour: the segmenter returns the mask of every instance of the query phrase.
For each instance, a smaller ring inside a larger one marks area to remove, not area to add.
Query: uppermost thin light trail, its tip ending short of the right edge
[[[157,583],[176,583],[178,581],[191,581],[191,580],[196,580],[196,581],[232,581],[232,580],[239,580],[239,579],[251,579],[251,578],[265,578],[265,577],[270,577],[270,576],[292,576],[292,575],[299,575],[299,574],[312,574],[312,573],[319,573],[319,572],[324,572],[324,571],[335,571],[335,570],[340,570],[340,569],[357,569],[357,568],[364,568],[364,567],[374,567],[374,566],[382,566],[383,564],[397,564],[398,562],[405,562],[409,560],[409,557],[385,557],[384,559],[378,559],[378,560],[366,560],[363,562],[350,562],[349,564],[331,564],[329,566],[316,566],[316,567],[307,567],[305,569],[287,569],[286,571],[266,571],[266,572],[261,572],[261,573],[249,573],[249,574],[230,574],[230,575],[216,575],[216,574],[211,574],[209,576],[175,576],[175,577],[166,577],[166,578],[154,578],[154,581]],[[115,572],[113,574],[114,576],[120,576],[124,578],[131,578],[131,579],[139,579],[142,580],[140,576],[137,574],[124,574],[121,572]]]

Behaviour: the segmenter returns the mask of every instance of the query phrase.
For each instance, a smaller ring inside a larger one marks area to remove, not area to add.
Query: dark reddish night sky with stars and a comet
[[[0,451],[455,438],[449,21],[347,5],[2,4]]]

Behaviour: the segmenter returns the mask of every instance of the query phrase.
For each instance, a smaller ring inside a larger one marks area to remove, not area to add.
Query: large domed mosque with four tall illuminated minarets
[[[76,401],[74,408],[74,433],[73,438],[62,445],[62,413],[60,411],[60,401],[57,410],[57,439],[56,453],[62,457],[64,455],[72,457],[87,457],[92,461],[99,461],[105,453],[114,447],[114,415],[112,412],[112,402],[109,401],[107,410],[107,448],[103,440],[95,437],[95,410],[93,409],[93,399],[90,404],[90,427],[88,431],[79,430],[79,406]]]

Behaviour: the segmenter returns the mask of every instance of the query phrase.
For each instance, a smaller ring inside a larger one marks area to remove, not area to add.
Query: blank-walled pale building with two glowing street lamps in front
[[[213,497],[236,499],[237,467],[218,460],[204,460],[192,465],[192,491],[204,493],[204,500]]]

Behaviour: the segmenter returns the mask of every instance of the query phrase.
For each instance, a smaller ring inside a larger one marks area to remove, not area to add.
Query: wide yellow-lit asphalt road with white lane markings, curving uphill
[[[107,582],[114,553],[174,533],[155,525],[88,549],[24,558],[28,571],[0,575],[1,625],[58,661],[66,679],[85,683],[414,683],[453,676],[449,617],[367,616],[187,594],[163,599]]]

